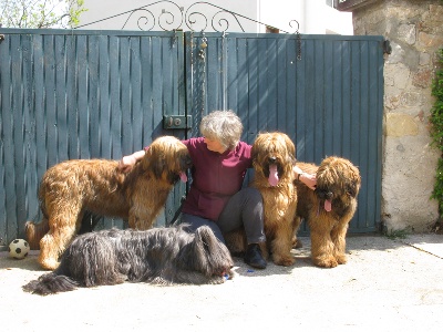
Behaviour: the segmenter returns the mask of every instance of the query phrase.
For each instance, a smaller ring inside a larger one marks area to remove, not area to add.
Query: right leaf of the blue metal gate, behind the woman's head
[[[231,108],[243,120],[248,143],[259,132],[281,131],[296,143],[301,162],[349,158],[362,176],[349,232],[378,230],[382,37],[189,33],[186,45],[193,55],[187,110],[195,121],[212,110]]]

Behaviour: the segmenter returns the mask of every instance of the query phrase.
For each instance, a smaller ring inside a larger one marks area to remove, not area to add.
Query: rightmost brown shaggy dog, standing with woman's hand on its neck
[[[311,256],[316,266],[334,268],[347,262],[346,235],[357,209],[361,178],[348,159],[328,157],[320,166],[297,163],[303,172],[317,174],[316,190],[297,184],[297,228],[301,218],[310,228]],[[296,241],[296,238],[293,239]]]

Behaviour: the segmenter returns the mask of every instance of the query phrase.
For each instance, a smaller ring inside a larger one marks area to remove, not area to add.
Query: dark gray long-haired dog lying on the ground
[[[66,248],[54,271],[23,286],[23,290],[47,295],[125,281],[216,284],[233,278],[229,250],[210,228],[188,232],[185,227],[81,235]]]

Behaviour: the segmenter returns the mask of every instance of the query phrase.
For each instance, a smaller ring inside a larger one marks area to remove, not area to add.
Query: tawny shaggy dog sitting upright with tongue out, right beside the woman
[[[264,133],[254,142],[251,154],[255,175],[250,186],[257,188],[264,199],[267,242],[261,246],[262,255],[268,258],[270,252],[276,264],[291,266],[295,262],[290,250],[297,208],[296,147],[284,133]],[[225,240],[231,252],[245,251],[243,229],[225,235]]]

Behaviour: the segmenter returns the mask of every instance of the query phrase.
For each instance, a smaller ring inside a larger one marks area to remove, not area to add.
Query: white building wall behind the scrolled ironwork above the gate
[[[157,3],[155,3],[157,2]],[[225,21],[229,22],[229,32],[265,32],[266,27],[264,24],[257,24],[255,21],[272,25],[286,32],[296,32],[297,24],[293,22],[292,28],[289,22],[297,20],[299,22],[299,32],[306,34],[324,34],[324,33],[338,33],[338,34],[353,34],[352,29],[352,13],[339,12],[331,7],[326,4],[324,0],[209,0],[207,2],[215,4],[212,7],[205,3],[194,4],[196,0],[175,0],[175,1],[158,1],[158,0],[85,0],[85,8],[87,11],[81,17],[81,25],[102,20],[112,15],[117,15],[126,11],[134,10],[151,3],[153,6],[146,7],[146,10],[151,10],[154,19],[163,19],[163,27],[166,30],[181,28],[183,30],[189,30],[189,28],[182,23],[182,12],[178,7],[183,7],[184,11],[204,13],[207,18],[204,19],[200,14],[195,14],[195,23],[193,29],[200,31],[204,29],[204,24],[207,22],[205,31],[214,31],[212,24],[216,24],[216,29],[223,31],[226,29]],[[176,3],[177,6],[175,6]],[[194,4],[194,6],[193,6]],[[237,17],[239,24],[229,13],[218,13],[219,8],[233,11],[240,17]],[[171,14],[163,14],[162,10],[171,11]],[[121,30],[123,27],[127,30],[138,30],[137,20],[142,15],[150,19],[146,27],[151,27],[153,18],[145,10],[140,10],[134,13],[131,19],[125,23],[130,13],[105,20],[94,24],[85,25],[82,29],[113,29]],[[244,18],[241,18],[244,17]],[[213,21],[213,18],[215,19]],[[250,20],[248,20],[248,19]],[[171,22],[167,24],[166,21]],[[143,19],[140,21],[145,22]],[[181,24],[182,23],[182,24]],[[222,25],[218,25],[222,24]],[[243,29],[241,29],[243,28]],[[148,28],[147,28],[148,30]],[[161,30],[161,29],[154,29]]]

